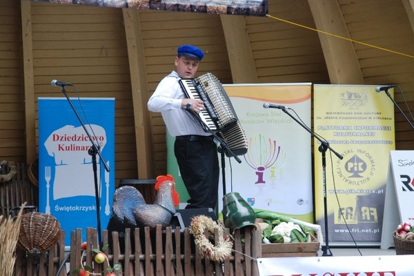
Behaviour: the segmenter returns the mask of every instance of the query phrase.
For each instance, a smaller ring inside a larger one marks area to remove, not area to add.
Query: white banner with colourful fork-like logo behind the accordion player
[[[311,83],[238,84],[224,89],[248,139],[248,152],[239,156],[241,164],[224,158],[226,193],[239,193],[256,210],[313,222],[311,134],[282,110],[264,108],[265,102],[288,106],[288,112],[311,126]],[[174,141],[167,137],[167,169],[184,208],[188,193],[179,175]],[[223,186],[221,178],[218,212]]]

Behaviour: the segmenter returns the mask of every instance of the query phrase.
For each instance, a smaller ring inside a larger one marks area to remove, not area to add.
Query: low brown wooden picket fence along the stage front
[[[85,241],[82,241],[81,233],[81,229],[70,233],[70,251],[65,251],[63,231],[58,244],[47,252],[28,253],[18,248],[15,275],[63,276],[69,275],[82,265],[92,268],[93,273],[106,275],[108,266],[113,268],[116,264],[120,265],[120,269],[115,270],[115,275],[259,275],[256,259],[262,255],[261,237],[255,228],[235,230],[232,235],[233,253],[223,263],[201,257],[189,228],[183,231],[180,231],[179,227],[162,229],[161,226],[152,230],[148,227],[126,229],[124,237],[119,237],[118,232],[109,233],[108,230],[104,230],[102,244],[110,246],[103,251],[109,263],[103,264],[95,263],[91,250],[99,248],[97,230],[86,230],[88,248],[84,253],[81,244]],[[217,237],[218,232],[215,234]]]

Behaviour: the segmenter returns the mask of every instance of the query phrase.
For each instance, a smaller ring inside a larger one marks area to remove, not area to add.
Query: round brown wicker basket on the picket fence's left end
[[[32,253],[45,252],[57,244],[60,231],[55,217],[37,212],[26,213],[21,216],[17,244]]]

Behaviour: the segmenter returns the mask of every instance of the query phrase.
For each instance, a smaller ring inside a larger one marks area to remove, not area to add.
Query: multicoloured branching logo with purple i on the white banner
[[[248,151],[244,155],[244,159],[248,166],[256,172],[257,179],[255,184],[266,184],[264,171],[275,164],[279,159],[280,152],[281,148],[276,145],[276,140],[266,139],[263,135],[249,139]]]

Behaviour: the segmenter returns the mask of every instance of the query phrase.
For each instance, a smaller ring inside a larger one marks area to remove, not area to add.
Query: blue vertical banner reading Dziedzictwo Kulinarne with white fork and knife
[[[57,218],[70,245],[70,231],[97,228],[97,198],[101,230],[110,219],[115,192],[115,99],[70,98],[81,121],[99,146],[97,190],[92,147],[86,130],[66,98],[39,98],[39,211]],[[106,171],[105,162],[109,167]]]

